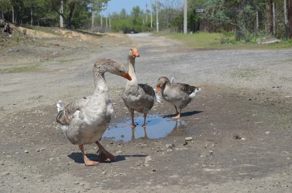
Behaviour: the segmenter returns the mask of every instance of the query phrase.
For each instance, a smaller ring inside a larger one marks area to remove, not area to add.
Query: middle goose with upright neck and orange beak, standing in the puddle
[[[135,72],[135,58],[139,57],[138,50],[132,48],[128,52],[128,73],[132,80],[127,81],[126,88],[123,91],[122,99],[131,113],[132,124],[130,127],[136,127],[134,123],[134,111],[144,113],[144,124],[146,127],[146,116],[151,110],[154,101],[160,103],[160,97],[155,93],[155,90],[147,84],[138,84]]]

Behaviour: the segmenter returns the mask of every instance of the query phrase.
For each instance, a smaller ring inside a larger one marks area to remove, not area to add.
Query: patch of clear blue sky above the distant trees
[[[110,0],[109,1],[109,6],[108,6],[108,13],[112,12],[118,12],[122,10],[122,8],[125,8],[127,13],[130,13],[132,8],[134,6],[139,6],[141,9],[145,10],[146,9],[146,1],[147,4],[150,4],[150,0]],[[155,2],[155,0],[152,0],[152,3]],[[150,9],[148,7],[148,9]],[[106,15],[106,11],[103,11],[103,15]]]

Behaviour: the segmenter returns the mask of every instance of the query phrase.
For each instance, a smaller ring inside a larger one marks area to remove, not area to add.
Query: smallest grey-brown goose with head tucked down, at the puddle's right
[[[156,84],[158,93],[162,95],[162,98],[174,105],[177,116],[172,117],[178,119],[181,117],[182,109],[186,107],[196,96],[197,92],[201,88],[190,86],[183,83],[174,83],[174,78],[171,81],[165,76],[160,77]],[[178,109],[180,112],[178,112]]]

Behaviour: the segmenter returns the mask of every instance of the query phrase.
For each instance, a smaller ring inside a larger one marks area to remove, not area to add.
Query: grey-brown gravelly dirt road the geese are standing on
[[[292,50],[195,50],[163,37],[130,37],[141,83],[155,86],[160,76],[173,76],[202,88],[182,118],[171,121],[173,106],[156,104],[148,130],[124,123],[121,139],[133,140],[110,139],[129,115],[120,96],[126,80],[107,74],[115,118],[101,143],[117,158],[86,167],[55,123],[55,103],[90,94],[93,63],[111,57],[126,64],[129,48],[0,74],[0,193],[292,192]],[[165,120],[167,136],[147,139],[159,136]],[[93,160],[96,148],[85,146]]]

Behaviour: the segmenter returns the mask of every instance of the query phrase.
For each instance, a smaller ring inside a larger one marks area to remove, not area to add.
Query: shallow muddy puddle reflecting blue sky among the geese
[[[123,119],[119,123],[110,123],[109,128],[103,135],[103,139],[108,140],[134,140],[134,139],[157,139],[166,136],[182,136],[184,128],[183,121],[163,118],[159,115],[148,115],[146,118],[146,128],[142,127],[143,115],[135,117],[135,128],[131,125],[131,118]]]

